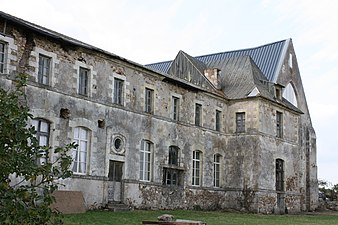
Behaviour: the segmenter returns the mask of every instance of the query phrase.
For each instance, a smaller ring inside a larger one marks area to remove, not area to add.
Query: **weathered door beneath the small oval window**
[[[121,202],[122,200],[123,162],[109,161],[108,173],[108,201]]]

